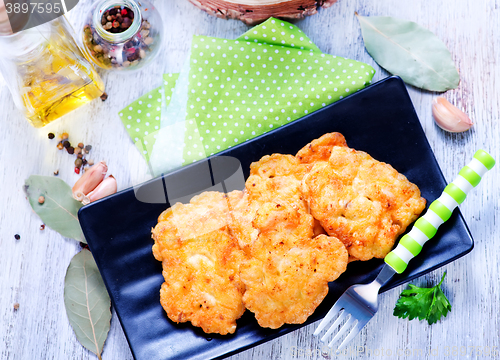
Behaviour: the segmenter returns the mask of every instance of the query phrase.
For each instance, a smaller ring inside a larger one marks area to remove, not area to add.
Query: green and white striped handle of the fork
[[[450,218],[453,210],[465,200],[469,191],[479,184],[483,175],[494,165],[495,160],[486,151],[478,150],[472,161],[460,170],[456,179],[432,202],[425,215],[401,238],[398,246],[387,254],[385,262],[398,274],[405,271],[408,262],[436,235],[438,227]]]

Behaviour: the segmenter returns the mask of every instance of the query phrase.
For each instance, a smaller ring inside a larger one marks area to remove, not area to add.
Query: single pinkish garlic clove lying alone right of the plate
[[[473,125],[466,113],[441,96],[432,102],[432,115],[437,126],[450,132],[467,131]]]

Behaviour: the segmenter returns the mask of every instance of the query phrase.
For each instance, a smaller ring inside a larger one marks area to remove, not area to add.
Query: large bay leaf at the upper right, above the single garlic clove
[[[425,90],[446,91],[458,87],[460,75],[451,54],[431,31],[394,17],[356,16],[366,50],[391,74]]]

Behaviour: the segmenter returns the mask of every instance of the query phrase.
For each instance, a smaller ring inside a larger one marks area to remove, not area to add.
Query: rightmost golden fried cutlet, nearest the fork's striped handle
[[[313,163],[301,189],[311,214],[359,260],[385,257],[426,202],[391,165],[345,146]]]

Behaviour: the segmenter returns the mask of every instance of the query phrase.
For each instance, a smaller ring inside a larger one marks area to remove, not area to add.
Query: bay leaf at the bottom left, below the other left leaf
[[[111,321],[111,300],[94,257],[83,249],[64,279],[64,305],[78,341],[101,359]]]

